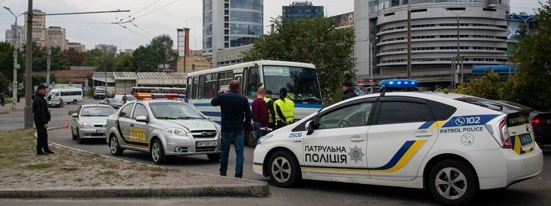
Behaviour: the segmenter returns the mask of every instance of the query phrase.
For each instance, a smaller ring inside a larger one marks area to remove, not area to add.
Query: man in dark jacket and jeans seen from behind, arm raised
[[[231,141],[236,148],[236,177],[243,176],[243,144],[245,129],[251,124],[249,100],[239,93],[237,80],[229,82],[229,91],[223,91],[211,100],[212,106],[220,106],[222,112],[222,147],[220,154],[220,175],[226,176]]]

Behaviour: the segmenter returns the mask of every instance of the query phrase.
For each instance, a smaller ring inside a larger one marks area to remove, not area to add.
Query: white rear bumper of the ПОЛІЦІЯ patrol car
[[[477,150],[468,155],[481,190],[509,187],[537,176],[543,168],[543,152],[538,146],[522,155],[511,149]]]

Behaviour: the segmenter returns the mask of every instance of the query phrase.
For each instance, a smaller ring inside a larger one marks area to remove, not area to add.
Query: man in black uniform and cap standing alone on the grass
[[[32,113],[34,114],[34,125],[37,127],[37,155],[54,154],[48,148],[48,122],[52,116],[48,111],[48,102],[46,102],[46,88],[39,85],[37,94],[32,100]]]

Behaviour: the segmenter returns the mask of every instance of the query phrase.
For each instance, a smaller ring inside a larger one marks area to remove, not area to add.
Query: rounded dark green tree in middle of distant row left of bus
[[[149,47],[149,45],[146,45],[145,47],[140,45],[136,48],[136,50],[134,50],[132,55],[134,56],[134,67],[136,67],[138,71],[142,72],[157,71],[158,65],[163,62],[163,58],[160,57],[160,54],[155,52],[152,47]]]

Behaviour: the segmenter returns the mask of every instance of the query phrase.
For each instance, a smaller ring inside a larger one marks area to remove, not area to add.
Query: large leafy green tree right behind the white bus
[[[318,16],[291,21],[275,19],[275,32],[261,36],[245,60],[284,60],[313,63],[324,102],[340,101],[342,82],[355,78],[354,30],[335,29],[335,21]]]

